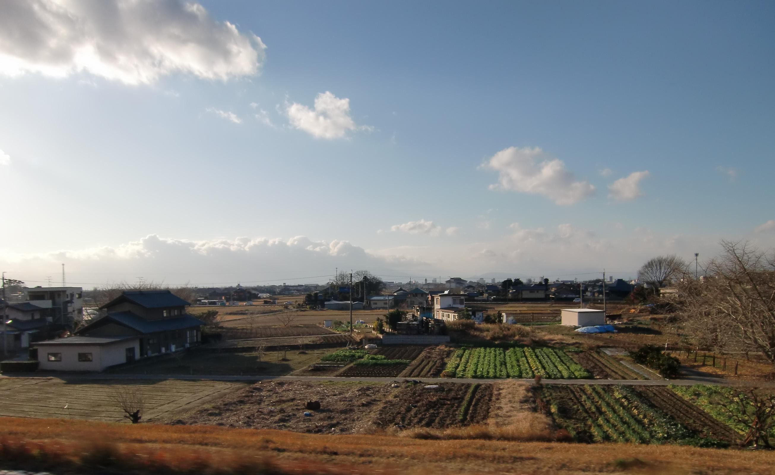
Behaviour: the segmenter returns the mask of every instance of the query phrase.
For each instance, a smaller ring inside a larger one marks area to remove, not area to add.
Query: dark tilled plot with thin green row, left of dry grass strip
[[[446,429],[484,422],[490,411],[492,384],[406,384],[384,401],[374,425],[384,429]]]

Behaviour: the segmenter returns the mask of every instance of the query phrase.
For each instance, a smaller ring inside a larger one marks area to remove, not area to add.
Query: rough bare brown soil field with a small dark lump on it
[[[366,432],[391,391],[396,390],[388,384],[261,381],[157,422],[326,434]],[[320,401],[321,408],[308,411],[307,401]],[[305,411],[310,416],[305,416]]]

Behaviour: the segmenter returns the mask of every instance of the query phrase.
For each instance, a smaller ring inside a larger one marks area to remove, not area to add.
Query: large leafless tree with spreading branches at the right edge
[[[677,305],[686,329],[701,344],[775,363],[775,255],[746,242],[722,247],[701,281],[681,281]]]

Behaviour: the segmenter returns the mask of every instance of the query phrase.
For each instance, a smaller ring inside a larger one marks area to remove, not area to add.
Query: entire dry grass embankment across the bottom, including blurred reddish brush
[[[772,473],[772,453],[680,446],[421,440],[213,426],[0,419],[0,464],[77,473]],[[74,435],[81,442],[74,441]],[[19,442],[25,441],[25,442]],[[110,442],[105,442],[110,441]]]

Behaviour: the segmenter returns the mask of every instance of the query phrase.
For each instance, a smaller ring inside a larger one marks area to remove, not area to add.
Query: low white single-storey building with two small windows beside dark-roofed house
[[[140,354],[136,336],[70,336],[33,345],[42,371],[103,371],[130,363]]]

